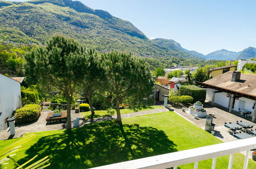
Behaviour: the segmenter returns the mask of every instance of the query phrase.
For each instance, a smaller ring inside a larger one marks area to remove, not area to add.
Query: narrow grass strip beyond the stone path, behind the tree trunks
[[[139,111],[146,111],[146,110],[154,110],[154,109],[162,109],[164,108],[163,106],[160,106],[160,105],[153,105],[153,106],[150,106],[150,107],[147,107],[147,108],[144,108],[144,109],[141,109]],[[113,109],[114,110],[114,109]],[[114,110],[115,112],[115,110]],[[131,110],[131,109],[120,109],[120,113],[121,114],[127,114],[127,113],[133,113],[134,111]],[[116,114],[116,112],[114,113]],[[82,117],[87,117],[87,118],[90,118],[90,115],[91,115],[91,111],[88,111],[88,112],[81,112],[81,116]],[[109,115],[107,110],[95,110],[95,115],[94,117],[102,117],[102,116],[106,116],[106,115]]]

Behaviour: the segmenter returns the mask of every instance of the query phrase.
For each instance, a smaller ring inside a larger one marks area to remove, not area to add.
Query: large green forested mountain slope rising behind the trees
[[[45,44],[66,35],[99,52],[123,51],[158,59],[198,57],[157,45],[130,22],[70,0],[0,1],[0,39]]]

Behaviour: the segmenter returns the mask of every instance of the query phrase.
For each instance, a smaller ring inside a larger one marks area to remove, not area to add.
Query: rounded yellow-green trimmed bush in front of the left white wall
[[[26,104],[24,107],[17,109],[15,120],[17,124],[25,124],[38,119],[41,115],[41,107],[38,104]]]

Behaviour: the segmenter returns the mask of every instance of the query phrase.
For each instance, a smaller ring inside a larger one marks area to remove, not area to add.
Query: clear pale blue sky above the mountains
[[[128,20],[149,38],[178,41],[203,54],[256,47],[256,1],[81,0]]]

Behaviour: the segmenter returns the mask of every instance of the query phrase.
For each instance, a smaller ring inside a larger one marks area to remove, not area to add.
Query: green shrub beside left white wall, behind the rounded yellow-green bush
[[[22,104],[33,104],[39,102],[39,97],[36,92],[28,91],[28,90],[22,90]]]

